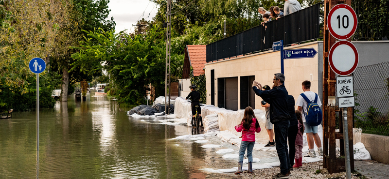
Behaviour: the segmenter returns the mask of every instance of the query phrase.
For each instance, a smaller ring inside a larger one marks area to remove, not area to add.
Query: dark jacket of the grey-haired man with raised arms
[[[285,88],[285,85],[280,85],[278,87],[274,87],[271,90],[259,90],[257,87],[252,87],[255,94],[261,96],[262,99],[270,104],[270,122],[272,124],[289,120],[290,115],[288,111],[288,91]]]

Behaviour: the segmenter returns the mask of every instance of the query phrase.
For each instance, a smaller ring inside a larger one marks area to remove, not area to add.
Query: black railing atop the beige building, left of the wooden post
[[[236,57],[270,49],[273,42],[283,40],[284,45],[314,40],[320,37],[320,3],[253,27],[207,45],[207,62]]]

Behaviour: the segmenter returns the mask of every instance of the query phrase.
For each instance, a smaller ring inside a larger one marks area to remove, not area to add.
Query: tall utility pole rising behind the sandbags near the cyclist
[[[170,29],[171,29],[171,0],[166,7],[166,70],[165,70],[165,113],[170,114]],[[168,99],[166,99],[168,98]],[[169,101],[166,106],[166,100]]]

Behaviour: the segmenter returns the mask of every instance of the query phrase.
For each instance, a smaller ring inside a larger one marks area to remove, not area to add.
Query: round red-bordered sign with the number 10
[[[337,4],[328,13],[328,31],[336,39],[349,39],[354,34],[357,25],[355,11],[347,4]]]

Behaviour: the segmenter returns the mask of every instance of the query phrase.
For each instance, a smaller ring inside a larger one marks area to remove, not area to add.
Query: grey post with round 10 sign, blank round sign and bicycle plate
[[[326,18],[326,21],[328,31],[331,33],[331,35],[336,39],[341,40],[335,43],[328,53],[329,66],[337,75],[351,75],[358,66],[358,51],[351,42],[343,40],[350,39],[350,37],[354,34],[356,30],[358,22],[355,11],[350,5],[337,4],[333,8],[331,8]],[[338,86],[340,80],[338,81],[338,79],[336,79],[336,81]],[[354,95],[354,91],[348,89],[347,87],[350,86],[343,86],[342,88],[337,88],[338,97]],[[338,100],[338,107],[343,108],[343,139],[345,150],[346,177],[347,179],[351,179],[351,160],[346,107],[354,106],[354,97],[339,98]]]

